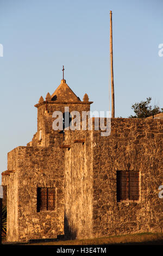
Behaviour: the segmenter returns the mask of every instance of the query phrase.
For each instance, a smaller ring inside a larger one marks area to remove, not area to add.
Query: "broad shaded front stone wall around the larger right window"
[[[111,119],[111,135],[93,133],[93,236],[163,231],[161,119]],[[139,202],[117,202],[116,171],[140,172]]]

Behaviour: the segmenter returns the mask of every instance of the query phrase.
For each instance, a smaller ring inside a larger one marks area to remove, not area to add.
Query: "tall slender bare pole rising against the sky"
[[[112,54],[112,11],[110,11],[110,69],[111,69],[111,117],[115,117],[114,100],[114,72],[113,72],[113,54]]]

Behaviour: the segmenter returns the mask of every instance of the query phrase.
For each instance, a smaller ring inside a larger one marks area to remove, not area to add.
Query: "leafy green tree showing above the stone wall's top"
[[[147,97],[146,101],[141,101],[140,103],[135,103],[133,106],[131,106],[135,112],[135,115],[130,115],[128,118],[147,118],[163,112],[163,108],[156,105],[154,105],[154,107],[149,105],[151,100],[152,97]]]

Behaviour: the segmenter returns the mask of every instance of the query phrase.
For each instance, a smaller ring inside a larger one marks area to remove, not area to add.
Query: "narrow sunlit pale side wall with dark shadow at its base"
[[[65,132],[65,235],[92,237],[92,132]],[[85,142],[74,143],[74,140]]]

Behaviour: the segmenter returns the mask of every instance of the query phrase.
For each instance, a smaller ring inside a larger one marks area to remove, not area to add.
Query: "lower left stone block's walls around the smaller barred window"
[[[10,175],[8,181],[7,240],[47,239],[64,234],[63,150],[18,147],[9,153],[8,161],[12,162],[14,156],[16,157],[16,172],[11,175],[15,178],[11,178]],[[55,211],[37,212],[37,187],[57,188],[57,209]],[[12,216],[17,222],[12,223]]]

